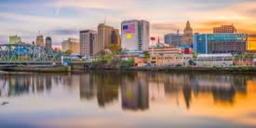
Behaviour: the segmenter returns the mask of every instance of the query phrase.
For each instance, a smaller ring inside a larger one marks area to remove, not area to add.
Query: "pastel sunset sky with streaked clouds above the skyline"
[[[212,28],[234,24],[248,33],[256,48],[256,0],[1,0],[0,43],[10,35],[35,41],[38,31],[51,36],[54,46],[79,30],[96,30],[99,23],[120,28],[123,20],[148,20],[150,36],[183,31],[187,20],[194,32],[212,33]]]

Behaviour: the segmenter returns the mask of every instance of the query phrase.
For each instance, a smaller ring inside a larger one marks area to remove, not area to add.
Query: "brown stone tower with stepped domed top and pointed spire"
[[[193,29],[190,27],[189,21],[187,21],[186,28],[183,32],[181,45],[193,45]]]

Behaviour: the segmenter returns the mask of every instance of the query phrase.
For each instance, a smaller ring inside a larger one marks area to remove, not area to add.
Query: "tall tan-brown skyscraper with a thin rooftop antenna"
[[[99,53],[111,44],[111,32],[114,28],[105,24],[98,25],[98,40],[95,45],[95,53]]]

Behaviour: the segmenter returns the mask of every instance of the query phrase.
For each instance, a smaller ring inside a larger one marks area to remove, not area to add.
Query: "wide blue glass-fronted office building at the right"
[[[247,50],[247,34],[195,34],[194,52],[201,54],[244,53]]]

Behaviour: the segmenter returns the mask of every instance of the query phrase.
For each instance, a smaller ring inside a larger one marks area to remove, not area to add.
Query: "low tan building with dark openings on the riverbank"
[[[193,54],[150,54],[149,63],[156,67],[186,66]]]

